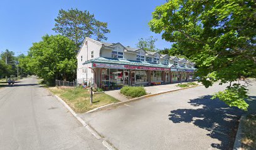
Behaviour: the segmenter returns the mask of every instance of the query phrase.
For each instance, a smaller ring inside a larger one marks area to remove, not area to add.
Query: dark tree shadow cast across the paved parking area
[[[191,99],[188,103],[195,109],[176,109],[169,114],[173,123],[193,123],[210,131],[207,136],[218,139],[221,144],[212,143],[213,148],[232,149],[240,116],[244,113],[238,108],[230,108],[210,95]],[[255,99],[252,96],[251,99]]]

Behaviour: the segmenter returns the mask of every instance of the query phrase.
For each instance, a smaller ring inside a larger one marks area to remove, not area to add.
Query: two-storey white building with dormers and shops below
[[[195,64],[176,56],[85,38],[77,54],[77,81],[104,89],[189,81]]]

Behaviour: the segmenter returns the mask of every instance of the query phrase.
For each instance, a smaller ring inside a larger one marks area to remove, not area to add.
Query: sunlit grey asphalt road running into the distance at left
[[[0,89],[0,149],[105,147],[36,78],[27,78]]]

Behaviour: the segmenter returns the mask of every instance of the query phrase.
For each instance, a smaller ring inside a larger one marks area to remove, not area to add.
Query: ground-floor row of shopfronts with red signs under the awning
[[[193,72],[172,66],[152,67],[127,64],[88,63],[87,73],[92,73],[93,83],[103,89],[119,89],[128,86],[151,86],[188,81]]]

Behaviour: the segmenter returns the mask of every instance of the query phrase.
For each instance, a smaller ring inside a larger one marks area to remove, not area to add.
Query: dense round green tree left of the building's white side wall
[[[75,43],[68,37],[43,36],[42,41],[33,43],[21,66],[53,85],[55,79],[73,81],[77,70]]]

